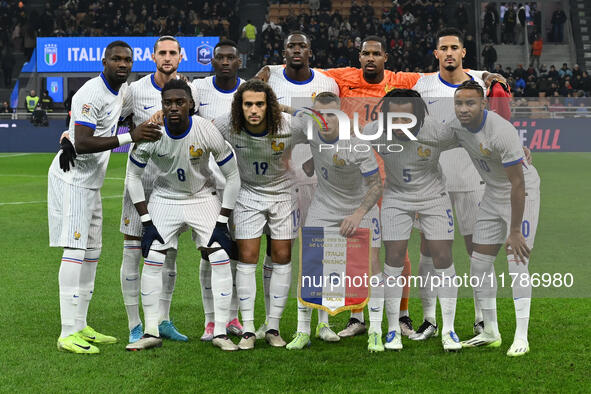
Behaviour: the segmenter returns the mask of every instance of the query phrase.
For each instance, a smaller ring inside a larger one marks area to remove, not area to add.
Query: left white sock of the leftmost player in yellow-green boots
[[[64,248],[62,263],[58,274],[60,293],[60,316],[62,323],[61,338],[77,332],[76,311],[78,309],[78,288],[80,286],[80,270],[84,262],[84,249]]]

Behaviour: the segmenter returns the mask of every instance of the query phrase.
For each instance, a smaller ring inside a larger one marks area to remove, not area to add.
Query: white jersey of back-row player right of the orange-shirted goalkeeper
[[[468,75],[486,91],[484,82],[480,79],[481,73],[470,71]],[[427,103],[429,115],[446,124],[456,118],[453,97],[458,86],[460,85],[446,82],[439,73],[435,73],[419,78],[413,89],[419,92]],[[439,162],[448,191],[466,192],[479,189],[481,178],[464,149],[442,152]]]

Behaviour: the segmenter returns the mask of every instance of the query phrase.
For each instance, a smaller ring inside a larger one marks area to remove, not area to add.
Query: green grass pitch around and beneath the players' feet
[[[534,164],[542,179],[540,224],[531,272],[572,273],[570,288],[534,289],[530,322],[531,353],[505,356],[513,339],[515,317],[508,289],[499,294],[500,349],[464,349],[444,353],[439,339],[404,340],[399,353],[368,354],[366,337],[337,344],[314,341],[300,352],[270,348],[263,342],[250,352],[222,353],[199,337],[203,331],[198,286],[198,253],[182,236],[172,317],[188,343],[164,343],[161,349],[129,353],[127,319],[119,286],[122,236],[119,233],[126,156],[111,157],[102,189],[103,252],[97,272],[89,324],[115,335],[116,345],[100,346],[98,356],[60,353],[57,273],[61,250],[48,247],[47,170],[51,154],[0,154],[0,391],[2,392],[241,392],[241,391],[588,391],[591,387],[591,266],[589,264],[591,155],[542,153]],[[456,237],[457,270],[468,259]],[[409,246],[413,272],[418,244]],[[260,268],[260,266],[259,266]],[[497,272],[506,272],[501,254]],[[294,280],[296,277],[294,269]],[[259,280],[257,320],[263,315]],[[294,282],[295,283],[295,282]],[[507,285],[506,285],[507,286]],[[292,293],[294,290],[292,289]],[[458,300],[456,331],[471,336],[471,291]],[[420,300],[410,300],[410,314],[420,324]],[[315,324],[316,314],[312,324]],[[340,329],[348,313],[331,318]],[[284,313],[287,340],[296,328],[296,300]],[[386,331],[384,323],[384,331]]]

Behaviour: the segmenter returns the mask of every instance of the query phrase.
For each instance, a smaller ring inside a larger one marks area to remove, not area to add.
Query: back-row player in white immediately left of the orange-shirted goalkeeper
[[[294,99],[298,100],[297,106],[311,106],[314,97],[321,92],[331,92],[339,94],[339,87],[332,78],[322,73],[314,72],[310,68],[310,57],[312,56],[312,46],[310,38],[300,31],[291,32],[284,42],[283,56],[285,58],[285,68],[273,67],[269,76],[268,84],[277,95],[277,101],[286,106],[294,106]],[[309,100],[309,103],[306,102]],[[296,197],[298,208],[295,212],[294,238],[297,237],[297,230],[301,223],[305,223],[308,207],[312,201],[312,195],[316,188],[316,175],[311,177],[306,175],[302,169],[302,164],[309,159],[310,147],[307,145],[297,145],[291,154],[291,168],[295,173]],[[269,311],[269,279],[273,272],[271,257],[267,255],[263,265],[263,291],[265,297],[265,311]],[[328,314],[325,311],[318,310],[321,315],[321,332],[328,333]],[[256,332],[257,339],[264,336],[266,324],[263,324]],[[332,332],[332,331],[330,331]],[[338,339],[338,337],[336,338]]]

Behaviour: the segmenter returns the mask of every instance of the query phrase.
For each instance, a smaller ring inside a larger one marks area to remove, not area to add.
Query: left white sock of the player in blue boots
[[[123,304],[127,311],[129,330],[142,322],[140,319],[140,261],[142,258],[142,242],[123,241],[123,261],[121,262],[120,280]]]

